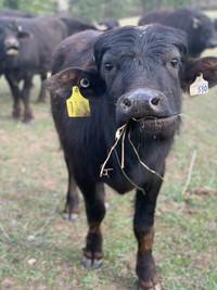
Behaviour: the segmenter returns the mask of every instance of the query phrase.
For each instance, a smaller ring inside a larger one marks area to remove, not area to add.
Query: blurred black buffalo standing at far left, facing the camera
[[[52,16],[34,18],[0,17],[0,73],[10,85],[14,105],[13,116],[20,117],[20,100],[24,102],[24,121],[33,118],[29,108],[29,90],[35,74],[43,81],[51,70],[52,53],[61,40],[67,36],[65,25]],[[18,84],[24,80],[23,89]],[[44,98],[44,90],[39,100]]]

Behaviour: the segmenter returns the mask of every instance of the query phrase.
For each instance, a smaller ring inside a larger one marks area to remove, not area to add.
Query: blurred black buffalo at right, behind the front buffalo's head
[[[142,16],[138,24],[150,23],[159,23],[184,30],[188,35],[189,53],[192,58],[200,56],[205,49],[217,46],[214,24],[209,17],[197,10],[189,8],[175,11],[153,10]]]

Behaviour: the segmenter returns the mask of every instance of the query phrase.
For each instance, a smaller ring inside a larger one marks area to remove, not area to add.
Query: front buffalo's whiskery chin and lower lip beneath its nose
[[[138,134],[144,134],[153,139],[171,138],[179,129],[181,124],[180,115],[169,117],[143,117],[140,119],[131,119],[130,127]]]

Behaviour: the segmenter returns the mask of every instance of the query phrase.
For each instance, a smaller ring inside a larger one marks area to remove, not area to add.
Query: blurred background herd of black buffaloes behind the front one
[[[177,11],[154,10],[143,15],[138,25],[159,23],[180,28],[187,33],[189,55],[200,56],[206,48],[217,46],[215,22],[193,9]],[[105,31],[119,26],[116,20],[101,24],[88,24],[68,16],[36,16],[28,12],[0,10],[0,75],[4,75],[13,97],[13,117],[21,116],[21,101],[24,104],[23,119],[29,123],[34,115],[29,106],[33,77],[38,74],[41,88],[38,101],[44,101],[42,86],[56,46],[76,33],[93,29]],[[21,88],[21,80],[23,86]]]

